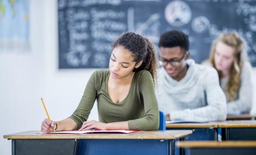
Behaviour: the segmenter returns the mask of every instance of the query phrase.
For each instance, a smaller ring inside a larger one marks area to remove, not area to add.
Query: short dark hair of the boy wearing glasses
[[[163,48],[173,48],[179,46],[180,48],[185,49],[185,51],[188,51],[189,37],[182,31],[167,31],[161,35],[158,46]]]

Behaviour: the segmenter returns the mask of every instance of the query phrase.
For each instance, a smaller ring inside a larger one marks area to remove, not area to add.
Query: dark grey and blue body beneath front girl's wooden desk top
[[[13,155],[174,154],[176,140],[12,140]]]

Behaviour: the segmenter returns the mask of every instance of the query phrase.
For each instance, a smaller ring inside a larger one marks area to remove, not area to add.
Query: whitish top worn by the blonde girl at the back
[[[223,90],[226,90],[226,84],[229,77],[221,78],[220,85]],[[229,102],[227,94],[227,113],[241,114],[249,113],[253,100],[253,82],[252,82],[252,67],[249,62],[245,62],[241,72],[241,87],[239,88],[238,97],[235,101]]]

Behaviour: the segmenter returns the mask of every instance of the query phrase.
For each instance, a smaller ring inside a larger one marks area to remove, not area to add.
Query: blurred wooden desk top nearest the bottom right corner
[[[256,147],[256,141],[179,141],[176,146],[185,148]]]

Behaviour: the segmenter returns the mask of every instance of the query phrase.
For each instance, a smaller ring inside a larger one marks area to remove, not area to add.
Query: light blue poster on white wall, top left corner
[[[0,52],[29,50],[29,0],[0,0]]]

